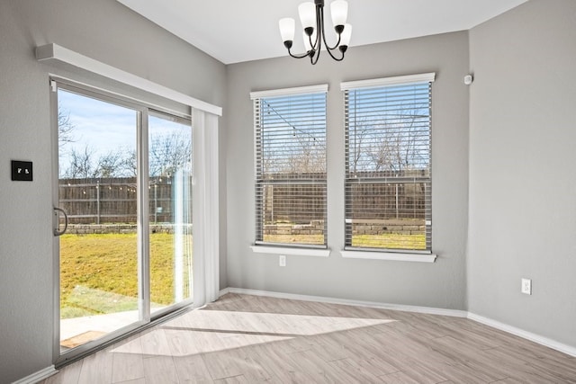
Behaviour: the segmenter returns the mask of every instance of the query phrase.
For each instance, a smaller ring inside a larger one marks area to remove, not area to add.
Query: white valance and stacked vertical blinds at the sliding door
[[[130,99],[137,104],[146,104],[152,109],[158,109],[173,113],[162,107],[156,108],[155,105],[147,102],[126,97],[122,94],[115,94],[108,89],[88,85],[78,79],[71,80],[59,75],[67,66],[78,67],[87,72],[102,76],[104,79],[118,82],[122,85],[128,85],[139,90],[165,97],[167,100],[174,101],[189,106],[193,120],[193,222],[194,222],[194,243],[193,254],[193,308],[200,308],[207,302],[215,301],[220,295],[220,241],[219,241],[219,117],[222,115],[222,108],[211,103],[205,103],[195,99],[187,94],[179,93],[166,86],[159,85],[135,76],[119,68],[109,66],[101,61],[88,58],[73,50],[66,49],[55,43],[50,43],[36,48],[36,58],[40,62],[52,64],[53,67],[49,73],[50,79],[62,83],[70,83],[80,87],[86,87],[94,90],[96,93],[110,94],[113,97]],[[66,71],[65,71],[66,72]],[[56,90],[50,81],[50,88]],[[54,93],[52,93],[54,94]],[[51,108],[56,108],[57,104],[53,96],[50,97]],[[178,114],[177,112],[175,114]],[[187,116],[186,116],[187,117]],[[57,132],[58,123],[56,119],[51,119],[52,131]],[[144,132],[145,133],[145,132]],[[143,138],[145,140],[146,138]],[[58,140],[53,140],[58,144]],[[144,143],[146,144],[146,143]],[[141,156],[147,161],[148,154]],[[52,177],[58,180],[58,170],[53,167]],[[142,165],[146,169],[146,165]],[[143,173],[144,177],[148,173]],[[140,182],[142,185],[146,180]],[[55,184],[56,185],[56,184]],[[140,188],[143,188],[139,185]],[[58,189],[54,187],[52,202],[57,206]],[[142,200],[143,201],[143,200]],[[147,207],[144,207],[146,210]],[[144,211],[146,212],[146,211]],[[144,228],[143,230],[148,230]],[[146,243],[143,243],[147,246]],[[55,252],[56,255],[56,252]],[[57,263],[55,263],[56,265]],[[54,281],[59,281],[59,272],[54,270]],[[54,341],[53,355],[54,362],[60,360],[59,353],[59,288],[54,287]],[[81,348],[81,347],[79,347]]]

